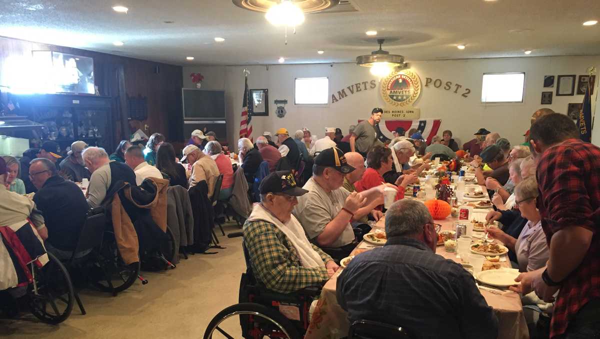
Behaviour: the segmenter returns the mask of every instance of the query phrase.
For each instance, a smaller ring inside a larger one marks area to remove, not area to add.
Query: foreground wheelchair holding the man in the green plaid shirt
[[[320,295],[320,287],[307,287],[295,293],[278,293],[269,290],[254,278],[248,251],[244,246],[246,272],[242,274],[239,286],[239,304],[220,311],[206,327],[204,339],[235,338],[229,334],[223,323],[239,317],[241,336],[246,339],[304,337],[308,328],[308,311],[314,298]],[[290,316],[284,316],[284,310]]]

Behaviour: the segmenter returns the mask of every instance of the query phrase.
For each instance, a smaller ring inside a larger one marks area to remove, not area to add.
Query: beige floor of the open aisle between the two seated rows
[[[239,228],[228,224],[224,230],[230,233]],[[202,338],[212,317],[237,303],[239,278],[245,271],[242,238],[217,233],[221,245],[227,247],[216,250],[218,254],[189,256],[169,271],[142,272],[148,284],[137,281],[116,297],[83,290],[80,296],[88,314],[83,316],[75,304],[71,316],[58,326],[41,323],[31,314],[0,319],[0,337]],[[239,323],[232,321],[225,327],[239,337],[235,332]]]

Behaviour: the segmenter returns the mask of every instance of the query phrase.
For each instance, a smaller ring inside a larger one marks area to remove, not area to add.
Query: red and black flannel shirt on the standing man
[[[569,139],[547,149],[537,169],[542,227],[548,247],[554,233],[569,226],[593,232],[581,265],[560,286],[554,304],[550,337],[563,334],[569,320],[590,299],[600,298],[600,148]],[[566,253],[565,253],[566,254]]]

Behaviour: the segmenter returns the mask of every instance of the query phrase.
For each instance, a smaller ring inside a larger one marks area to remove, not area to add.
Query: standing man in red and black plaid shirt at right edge
[[[600,338],[600,148],[558,113],[532,125],[547,266],[521,274],[523,294],[556,303],[551,338]]]

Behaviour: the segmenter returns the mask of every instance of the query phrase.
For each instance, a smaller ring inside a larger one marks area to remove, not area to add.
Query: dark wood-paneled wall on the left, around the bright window
[[[29,58],[32,50],[52,50],[94,58],[95,85],[100,88],[102,95],[108,96],[116,96],[118,93],[116,76],[113,70],[118,65],[123,65],[127,95],[130,97],[142,95],[142,97],[148,98],[148,120],[139,122],[137,125],[142,130],[144,130],[145,125],[148,125],[148,130],[145,131],[148,136],[158,132],[165,134],[167,140],[183,141],[183,112],[181,106],[183,77],[181,66],[0,37],[0,71],[3,69],[2,66],[7,58],[13,56]],[[157,67],[158,73],[155,72]],[[2,76],[0,74],[0,85],[4,85],[1,80]],[[115,124],[113,128],[118,128],[118,112],[115,110],[114,114]],[[136,125],[136,123],[134,122],[133,125]],[[120,134],[115,133],[115,136]],[[110,151],[112,152],[112,150]]]

